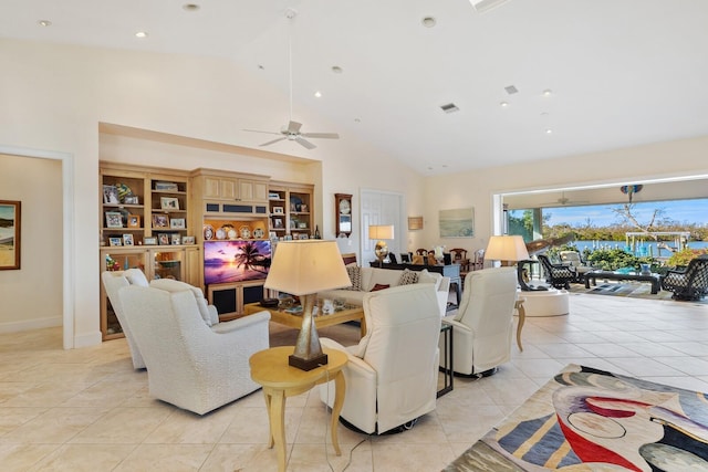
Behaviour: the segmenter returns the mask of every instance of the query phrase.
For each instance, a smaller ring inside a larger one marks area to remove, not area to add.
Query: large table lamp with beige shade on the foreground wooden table
[[[289,365],[312,370],[327,364],[322,352],[312,310],[317,292],[352,285],[335,241],[281,241],[266,279],[266,289],[300,297],[302,326]]]

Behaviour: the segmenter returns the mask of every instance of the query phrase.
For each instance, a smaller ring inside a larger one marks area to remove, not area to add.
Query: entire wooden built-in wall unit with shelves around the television
[[[254,174],[104,161],[98,180],[101,271],[139,268],[148,280],[170,277],[199,286],[222,319],[262,300],[266,279],[205,285],[205,244],[261,241],[273,251],[278,241],[309,239],[316,232],[312,185]],[[133,245],[124,245],[124,234],[133,235]],[[121,245],[112,245],[112,240]],[[104,339],[123,336],[103,284],[101,328]]]

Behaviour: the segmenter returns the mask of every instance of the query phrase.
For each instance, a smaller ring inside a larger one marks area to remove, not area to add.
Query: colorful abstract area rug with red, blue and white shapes
[[[566,366],[445,471],[708,471],[705,394]]]

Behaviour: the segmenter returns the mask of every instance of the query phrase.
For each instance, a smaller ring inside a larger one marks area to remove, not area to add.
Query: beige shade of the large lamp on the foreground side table
[[[352,285],[335,241],[281,241],[266,279],[266,289],[308,295]]]

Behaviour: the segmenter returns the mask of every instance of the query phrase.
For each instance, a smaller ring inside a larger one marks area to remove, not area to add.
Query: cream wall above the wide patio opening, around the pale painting
[[[708,174],[708,137],[570,156],[426,180],[425,240],[468,250],[483,249],[492,234],[492,195],[540,188],[628,182]],[[451,191],[450,189],[454,189]],[[439,209],[475,207],[472,239],[440,239]]]

